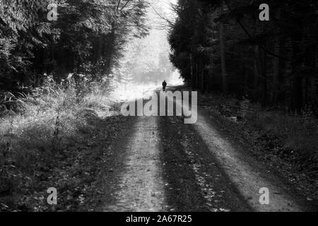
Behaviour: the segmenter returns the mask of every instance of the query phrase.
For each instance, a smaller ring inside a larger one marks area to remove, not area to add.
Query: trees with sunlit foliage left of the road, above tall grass
[[[131,37],[148,34],[144,0],[0,2],[0,90],[42,85],[69,73],[112,77]]]

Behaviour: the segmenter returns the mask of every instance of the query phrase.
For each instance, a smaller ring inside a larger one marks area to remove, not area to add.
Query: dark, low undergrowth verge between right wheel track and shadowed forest
[[[310,107],[302,114],[268,109],[247,98],[202,95],[200,105],[210,109],[227,131],[249,146],[252,154],[276,169],[309,201],[318,201],[318,119]]]

